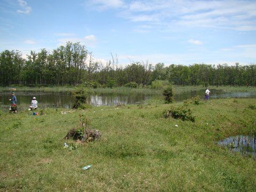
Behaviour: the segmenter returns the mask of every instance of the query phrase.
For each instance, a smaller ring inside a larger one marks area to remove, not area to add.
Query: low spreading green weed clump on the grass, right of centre
[[[171,107],[163,112],[165,118],[182,119],[183,121],[195,122],[195,117],[191,114],[191,110],[186,107]]]

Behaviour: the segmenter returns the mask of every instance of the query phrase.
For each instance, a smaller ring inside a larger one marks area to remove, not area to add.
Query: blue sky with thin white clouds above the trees
[[[256,63],[256,1],[0,0],[0,52],[80,42],[102,63]]]

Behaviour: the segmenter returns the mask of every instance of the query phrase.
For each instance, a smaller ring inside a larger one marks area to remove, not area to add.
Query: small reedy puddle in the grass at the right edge
[[[218,141],[218,145],[229,148],[230,151],[239,152],[243,155],[256,157],[256,135],[237,135]]]

